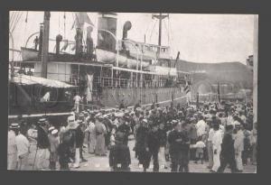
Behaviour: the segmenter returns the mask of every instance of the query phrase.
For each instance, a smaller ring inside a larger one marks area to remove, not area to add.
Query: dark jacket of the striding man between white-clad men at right
[[[224,134],[222,143],[221,143],[221,153],[220,155],[224,158],[235,158],[234,150],[234,140],[232,139],[231,134]]]

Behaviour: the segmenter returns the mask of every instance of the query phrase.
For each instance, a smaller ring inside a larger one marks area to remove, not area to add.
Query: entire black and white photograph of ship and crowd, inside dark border
[[[257,173],[258,14],[9,11],[8,171]]]

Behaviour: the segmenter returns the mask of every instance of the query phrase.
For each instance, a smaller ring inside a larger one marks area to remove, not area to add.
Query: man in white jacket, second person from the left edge
[[[17,170],[25,171],[28,166],[28,156],[30,153],[30,143],[27,138],[21,134],[19,131],[16,134],[16,144],[17,144],[17,156],[18,156],[18,166]]]

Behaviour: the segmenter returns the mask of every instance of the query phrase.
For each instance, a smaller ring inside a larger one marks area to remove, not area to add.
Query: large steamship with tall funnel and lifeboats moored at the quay
[[[89,107],[135,106],[138,102],[141,105],[186,103],[185,89],[191,84],[190,74],[176,69],[180,53],[173,59],[171,48],[161,44],[162,22],[168,14],[153,15],[159,21],[157,45],[129,39],[128,32],[133,29],[129,21],[123,25],[122,39],[117,39],[115,13],[99,13],[97,25],[89,23],[86,16],[86,13],[76,14],[75,41],[62,40],[62,35],[56,35],[54,52],[48,52],[50,13],[45,12],[40,32],[37,32],[39,47],[21,47],[21,67],[33,66],[33,78],[70,85],[60,87],[57,93],[54,88],[47,89],[53,91],[51,97],[57,94],[59,102],[69,102],[71,106],[72,97],[79,94],[84,97],[82,104]],[[87,29],[84,28],[86,22],[89,23]],[[96,46],[91,38],[95,28],[98,29]],[[65,51],[69,47],[74,53]],[[46,90],[39,95],[44,93]]]

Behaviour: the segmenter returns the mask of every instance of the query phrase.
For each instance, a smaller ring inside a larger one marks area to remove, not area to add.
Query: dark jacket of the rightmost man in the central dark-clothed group
[[[177,142],[177,139],[182,139],[182,142]],[[181,151],[189,150],[189,137],[185,131],[178,132],[173,130],[168,135],[168,142],[170,143],[170,153],[179,153]]]

